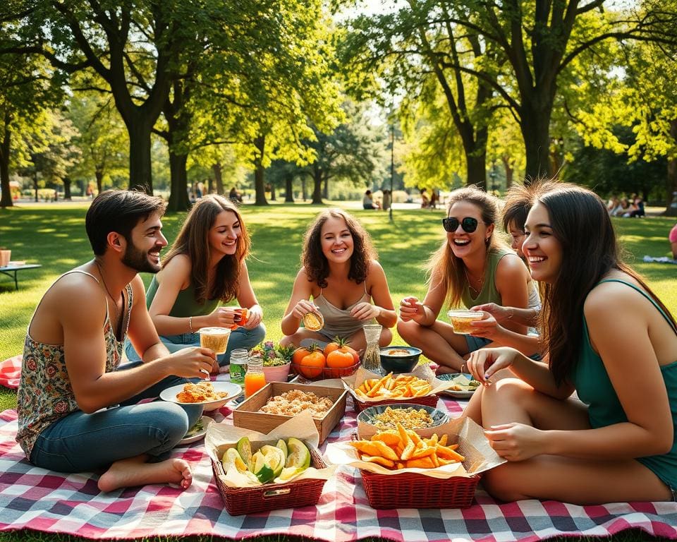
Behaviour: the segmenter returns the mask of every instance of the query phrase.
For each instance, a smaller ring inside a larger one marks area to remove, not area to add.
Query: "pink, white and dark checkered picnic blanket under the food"
[[[446,402],[446,406],[452,413],[461,412],[457,402]],[[228,414],[227,409],[222,412]],[[226,416],[226,423],[231,421],[232,416]],[[349,399],[346,416],[329,440],[347,439],[355,427]],[[32,466],[15,436],[16,412],[4,411],[0,414],[0,531],[34,529],[85,538],[202,534],[240,539],[286,534],[332,542],[368,536],[398,542],[488,542],[608,536],[638,528],[677,539],[674,502],[580,507],[523,500],[499,505],[479,489],[475,502],[465,510],[374,510],[367,502],[359,471],[343,466],[327,481],[315,507],[231,517],[214,485],[202,442],[175,450],[176,457],[193,464],[193,485],[188,490],[157,485],[102,494],[94,474],[64,475]]]

